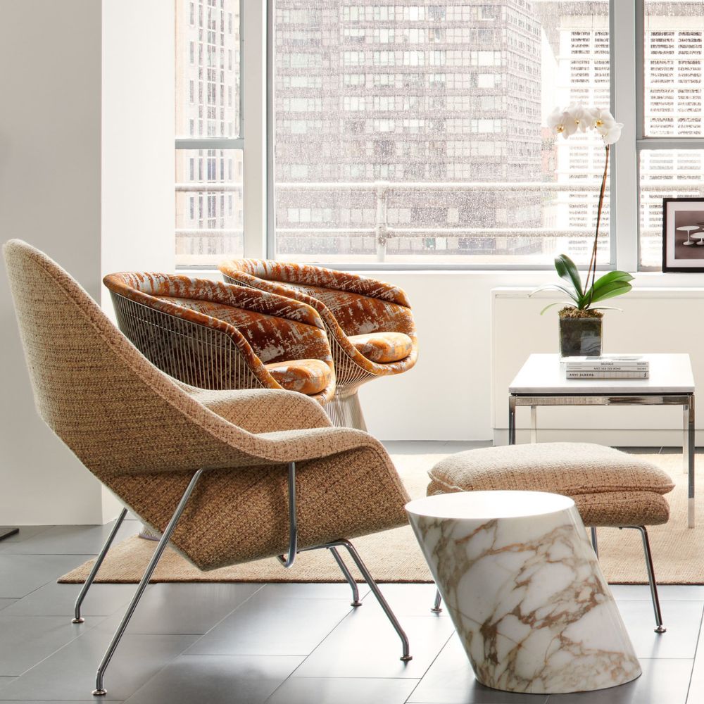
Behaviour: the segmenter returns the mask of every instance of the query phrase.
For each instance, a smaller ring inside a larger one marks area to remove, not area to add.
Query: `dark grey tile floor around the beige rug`
[[[477,446],[389,443],[391,453]],[[653,452],[653,448],[648,448]],[[665,450],[667,451],[667,450]],[[137,531],[126,522],[120,536]],[[110,526],[23,527],[0,543],[0,701],[95,701],[96,665],[134,585],[96,584],[86,622],[70,622],[75,585],[56,578],[94,555]],[[516,695],[477,684],[429,584],[382,590],[414,658],[362,589],[346,584],[153,584],[106,675],[107,700],[130,704],[700,704],[704,702],[704,586],[662,586],[667,633],[653,632],[646,586],[615,586],[643,675],[631,684],[562,696]]]

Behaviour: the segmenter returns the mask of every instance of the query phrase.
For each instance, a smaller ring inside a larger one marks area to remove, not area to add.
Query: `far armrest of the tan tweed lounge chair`
[[[329,428],[332,425],[320,403],[296,391],[210,391],[180,382],[179,386],[208,410],[250,433]]]

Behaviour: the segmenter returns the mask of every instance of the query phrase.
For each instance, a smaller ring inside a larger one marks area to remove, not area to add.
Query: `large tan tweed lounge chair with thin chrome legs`
[[[320,405],[279,390],[206,391],[151,365],[87,293],[42,252],[11,240],[4,255],[39,415],[89,471],[163,536],[113,636],[103,674],[169,541],[201,570],[328,548],[356,562],[408,639],[348,539],[406,524],[408,501],[377,440],[331,427]],[[99,569],[101,550],[76,605]]]

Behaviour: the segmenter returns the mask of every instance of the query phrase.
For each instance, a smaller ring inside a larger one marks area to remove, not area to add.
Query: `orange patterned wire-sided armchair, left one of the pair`
[[[108,274],[120,329],[149,361],[202,389],[335,391],[320,315],[266,291],[189,276]]]

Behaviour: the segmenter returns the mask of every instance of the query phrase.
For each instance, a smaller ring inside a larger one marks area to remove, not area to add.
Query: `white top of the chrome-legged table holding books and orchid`
[[[510,394],[693,394],[688,354],[643,354],[650,362],[648,379],[565,379],[558,354],[532,354],[521,367]]]

